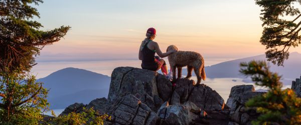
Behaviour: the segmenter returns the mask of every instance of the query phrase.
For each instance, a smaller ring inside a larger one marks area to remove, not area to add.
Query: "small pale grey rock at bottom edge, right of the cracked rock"
[[[161,124],[188,124],[188,108],[183,105],[169,105],[165,102],[158,110],[157,114],[161,119]]]

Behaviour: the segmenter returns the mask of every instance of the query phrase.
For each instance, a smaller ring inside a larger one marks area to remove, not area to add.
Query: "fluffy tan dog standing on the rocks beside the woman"
[[[167,47],[166,51],[178,50],[177,46],[170,45]],[[168,56],[168,61],[171,65],[173,72],[173,80],[176,80],[176,67],[178,68],[178,78],[182,76],[182,67],[187,66],[187,76],[190,78],[192,76],[192,69],[194,69],[198,81],[197,85],[201,83],[201,79],[206,79],[205,69],[204,69],[204,58],[203,56],[194,51],[177,51]]]

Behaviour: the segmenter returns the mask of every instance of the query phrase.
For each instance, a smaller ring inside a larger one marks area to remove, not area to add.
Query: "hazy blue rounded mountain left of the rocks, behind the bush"
[[[51,108],[65,108],[74,102],[89,103],[107,97],[111,78],[96,72],[68,67],[51,73],[37,81],[50,89],[48,101]]]

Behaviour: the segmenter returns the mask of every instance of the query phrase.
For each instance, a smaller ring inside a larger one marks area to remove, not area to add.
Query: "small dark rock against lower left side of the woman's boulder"
[[[106,99],[105,97],[102,98],[96,98],[94,100],[92,100],[87,106],[86,108],[91,108],[93,107],[93,109],[101,114],[104,114],[107,112],[107,109],[109,107],[109,100]]]

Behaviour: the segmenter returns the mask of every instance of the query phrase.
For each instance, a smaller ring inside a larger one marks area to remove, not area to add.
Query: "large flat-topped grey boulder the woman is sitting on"
[[[163,102],[162,99],[159,99],[157,75],[157,72],[151,70],[133,67],[117,67],[113,70],[111,75],[108,99],[114,101],[128,94],[139,94],[139,99],[143,103],[151,109],[157,110]],[[160,81],[164,81],[163,78],[161,78]],[[157,96],[157,98],[155,96]]]

